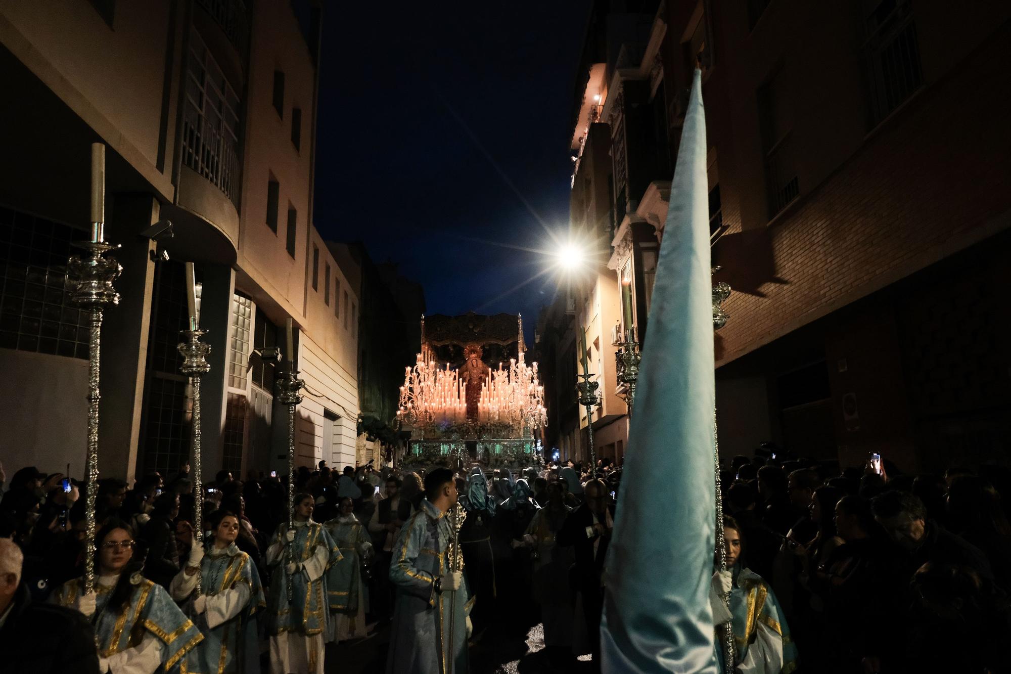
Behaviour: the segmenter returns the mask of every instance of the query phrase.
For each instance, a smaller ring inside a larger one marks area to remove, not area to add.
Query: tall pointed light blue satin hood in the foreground
[[[692,84],[607,557],[605,672],[717,671],[713,301],[706,117]]]

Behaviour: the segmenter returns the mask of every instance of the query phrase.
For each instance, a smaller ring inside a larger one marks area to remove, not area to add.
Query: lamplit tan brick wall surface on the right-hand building
[[[755,245],[717,244],[727,280],[741,279],[724,305],[718,365],[1011,225],[1009,36],[1004,24],[907,101]],[[718,147],[721,131],[711,130]],[[721,162],[724,190],[730,166]],[[736,201],[724,201],[731,235]]]

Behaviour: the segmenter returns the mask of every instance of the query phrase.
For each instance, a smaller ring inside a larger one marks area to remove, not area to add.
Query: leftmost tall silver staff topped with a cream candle
[[[91,146],[91,240],[75,243],[87,251],[81,258],[71,256],[67,269],[77,276],[77,285],[71,291],[71,302],[84,308],[89,315],[88,350],[88,453],[85,459],[85,480],[87,498],[85,500],[84,521],[87,551],[84,556],[84,593],[95,586],[95,498],[98,493],[98,403],[100,390],[100,352],[102,331],[102,307],[119,304],[119,293],[112,286],[122,271],[116,260],[103,257],[118,245],[105,243],[105,146],[93,143]]]

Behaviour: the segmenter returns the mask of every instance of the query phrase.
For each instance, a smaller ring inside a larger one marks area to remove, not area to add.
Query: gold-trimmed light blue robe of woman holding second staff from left
[[[203,593],[208,597],[246,584],[250,599],[238,615],[214,627],[207,626],[206,612],[194,618],[203,633],[203,642],[189,653],[187,669],[199,674],[259,672],[260,645],[257,640],[256,613],[267,602],[256,564],[249,555],[232,543],[223,554],[204,555],[200,564],[200,578]],[[192,609],[192,596],[187,606]]]

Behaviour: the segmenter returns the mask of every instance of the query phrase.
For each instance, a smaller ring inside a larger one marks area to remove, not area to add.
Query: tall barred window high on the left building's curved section
[[[196,30],[190,32],[182,161],[233,201],[239,199],[239,95]]]

